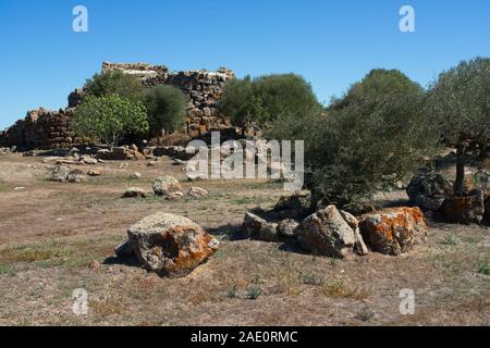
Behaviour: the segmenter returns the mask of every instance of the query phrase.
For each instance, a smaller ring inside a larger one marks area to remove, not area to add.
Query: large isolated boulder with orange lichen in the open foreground
[[[219,246],[216,238],[191,220],[161,212],[131,226],[127,235],[142,265],[168,277],[186,276]]]

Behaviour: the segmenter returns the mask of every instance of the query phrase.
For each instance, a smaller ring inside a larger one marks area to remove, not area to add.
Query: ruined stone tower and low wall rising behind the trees
[[[102,63],[102,73],[121,71],[137,76],[147,87],[170,85],[180,88],[188,98],[187,115],[183,134],[191,138],[203,136],[209,130],[232,128],[230,117],[217,109],[228,80],[235,78],[233,71],[220,67],[216,72],[205,70],[171,72],[164,65],[146,63]],[[69,96],[65,110],[47,111],[42,108],[27,112],[24,120],[0,132],[0,146],[17,146],[20,149],[59,149],[84,145],[69,130],[68,121],[83,98],[83,88]]]

